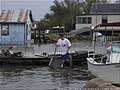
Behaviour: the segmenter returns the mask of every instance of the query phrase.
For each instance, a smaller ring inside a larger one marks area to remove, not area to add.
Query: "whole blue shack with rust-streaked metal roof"
[[[0,45],[25,46],[31,41],[30,10],[2,10],[0,14]]]

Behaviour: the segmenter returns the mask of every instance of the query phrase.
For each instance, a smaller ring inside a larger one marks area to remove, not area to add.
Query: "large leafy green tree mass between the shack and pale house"
[[[64,26],[66,31],[75,29],[76,16],[89,14],[92,3],[96,0],[55,0],[42,22],[48,26]]]

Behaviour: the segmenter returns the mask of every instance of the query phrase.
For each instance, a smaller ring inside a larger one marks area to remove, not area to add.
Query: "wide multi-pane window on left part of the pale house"
[[[77,17],[77,24],[91,24],[91,17]]]

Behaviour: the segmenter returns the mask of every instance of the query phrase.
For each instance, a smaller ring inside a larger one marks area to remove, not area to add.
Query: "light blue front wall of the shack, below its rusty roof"
[[[8,25],[9,25],[9,35],[1,35],[0,33],[0,44],[24,46],[25,24],[8,24]],[[1,24],[0,24],[0,29],[1,29]]]

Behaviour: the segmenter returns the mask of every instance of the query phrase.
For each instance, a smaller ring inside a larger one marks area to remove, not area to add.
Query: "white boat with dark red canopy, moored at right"
[[[99,26],[104,26],[103,24]],[[119,23],[105,24],[105,26],[120,26]],[[88,70],[105,81],[120,84],[120,41],[113,41],[111,49],[105,55],[87,58]]]

